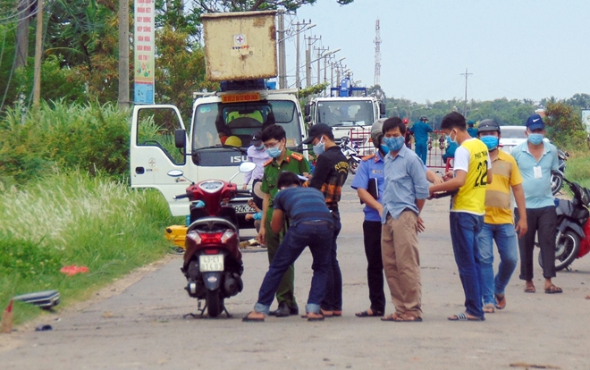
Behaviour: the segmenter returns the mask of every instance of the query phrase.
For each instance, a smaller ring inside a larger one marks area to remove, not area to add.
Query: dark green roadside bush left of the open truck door
[[[21,184],[58,166],[127,181],[129,131],[129,112],[110,104],[44,102],[24,116],[10,109],[0,122],[0,180]]]

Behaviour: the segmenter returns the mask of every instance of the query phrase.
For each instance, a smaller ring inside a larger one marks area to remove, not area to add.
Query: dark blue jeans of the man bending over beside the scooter
[[[325,282],[330,265],[330,247],[333,238],[333,225],[325,221],[298,223],[292,226],[282,239],[282,243],[274,255],[265,279],[258,291],[258,301],[254,310],[268,314],[274,300],[274,293],[279,288],[282,275],[301,255],[303,249],[309,247],[314,274],[311,278],[308,305],[306,312],[320,313],[320,303],[325,296]]]

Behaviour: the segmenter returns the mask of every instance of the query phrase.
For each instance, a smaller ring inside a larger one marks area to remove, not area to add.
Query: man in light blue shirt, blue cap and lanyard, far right
[[[527,141],[512,148],[510,154],[518,164],[523,177],[527,201],[527,234],[518,239],[520,249],[520,280],[526,282],[525,292],[535,293],[533,283],[533,251],[538,233],[543,260],[544,290],[547,294],[561,293],[552,283],[555,277],[555,236],[557,214],[551,191],[551,175],[559,168],[557,148],[545,143],[545,125],[539,114],[527,119]],[[518,216],[517,216],[518,223]]]

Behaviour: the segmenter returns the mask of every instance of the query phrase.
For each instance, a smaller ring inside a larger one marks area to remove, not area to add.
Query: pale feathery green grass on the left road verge
[[[62,303],[89,295],[164,256],[173,223],[156,190],[133,190],[100,175],[54,173],[20,188],[0,182],[0,307],[15,295],[58,290]],[[64,265],[89,273],[67,276]],[[15,323],[42,311],[18,304]]]

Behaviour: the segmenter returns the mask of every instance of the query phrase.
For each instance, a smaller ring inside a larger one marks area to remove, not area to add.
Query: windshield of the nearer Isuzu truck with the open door
[[[241,151],[245,156],[252,134],[271,124],[280,124],[285,130],[287,147],[301,150],[299,114],[291,101],[198,105],[191,130],[193,161],[198,165],[232,165],[235,159],[232,159],[234,162],[226,161],[223,153],[227,152],[230,158],[240,155]]]

